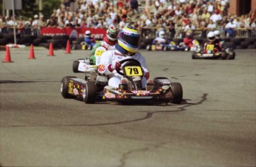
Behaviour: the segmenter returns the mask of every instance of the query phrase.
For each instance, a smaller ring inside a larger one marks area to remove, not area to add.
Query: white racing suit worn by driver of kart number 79
[[[112,72],[108,68],[111,64],[115,64],[117,61],[122,61],[124,59],[134,58],[140,62],[142,69],[144,72],[148,72],[147,64],[145,64],[145,58],[140,54],[140,52],[136,52],[135,55],[124,55],[118,50],[108,50],[102,53],[102,56],[99,61],[98,72],[102,75],[109,75],[110,79],[108,80],[108,86],[118,87],[121,81],[122,75],[119,75],[114,69]],[[145,88],[146,78],[142,79],[142,87]]]

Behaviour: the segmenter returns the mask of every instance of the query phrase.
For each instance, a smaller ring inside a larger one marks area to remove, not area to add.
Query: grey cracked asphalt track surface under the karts
[[[142,50],[151,78],[183,86],[183,103],[85,104],[59,88],[88,51],[10,49],[0,63],[0,166],[256,166],[256,52],[192,60]],[[5,52],[0,52],[1,61]]]

